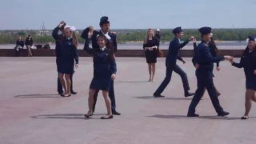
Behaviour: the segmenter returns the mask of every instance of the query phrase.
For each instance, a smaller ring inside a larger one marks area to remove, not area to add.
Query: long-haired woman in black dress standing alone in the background
[[[158,57],[159,42],[158,38],[154,37],[154,30],[149,29],[146,32],[146,38],[143,42],[143,49],[146,54],[146,63],[150,74],[149,82],[154,82],[155,63]]]

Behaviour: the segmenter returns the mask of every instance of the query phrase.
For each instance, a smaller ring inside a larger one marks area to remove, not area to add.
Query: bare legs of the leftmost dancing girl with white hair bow
[[[64,80],[65,77],[65,80]],[[64,92],[64,97],[69,97],[70,96],[70,74],[58,74],[58,78],[60,82],[62,83],[62,86],[65,90]]]

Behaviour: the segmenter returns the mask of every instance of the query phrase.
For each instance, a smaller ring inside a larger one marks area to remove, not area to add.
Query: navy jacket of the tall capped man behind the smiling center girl
[[[89,30],[90,30],[89,27],[87,27],[85,30],[83,30],[82,34],[81,34],[81,37],[84,38],[84,39],[87,39]],[[97,35],[98,34],[103,34],[102,30],[100,30],[100,31],[94,30],[94,34],[90,38],[90,40],[92,41],[93,49],[97,49],[97,50],[99,50],[99,46],[98,46],[98,42],[97,42]],[[113,50],[114,50],[114,53],[115,53],[118,50],[117,36],[116,36],[116,34],[111,34],[110,32],[108,32],[108,35],[111,38],[111,43],[112,43],[112,46],[114,46]]]

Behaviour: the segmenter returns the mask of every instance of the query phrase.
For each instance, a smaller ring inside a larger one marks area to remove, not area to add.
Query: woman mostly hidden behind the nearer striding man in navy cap
[[[194,50],[196,49],[196,40],[194,39]],[[215,58],[218,56],[218,48],[214,42],[214,38],[210,38],[210,42],[208,43],[208,46],[210,48],[210,54]],[[196,65],[197,62],[194,62],[194,58],[192,59],[192,62],[194,63],[194,66]],[[198,67],[198,66],[197,66]],[[219,66],[219,62],[216,62],[216,70],[220,70],[220,66]],[[214,63],[212,64],[211,66],[211,71],[212,71],[212,75],[214,77]],[[215,87],[215,90],[217,92],[217,95],[220,96],[221,94],[218,92],[218,90],[216,89]],[[202,98],[203,99],[203,95],[205,94],[206,92],[206,88],[205,90],[203,91],[203,94],[202,94]]]

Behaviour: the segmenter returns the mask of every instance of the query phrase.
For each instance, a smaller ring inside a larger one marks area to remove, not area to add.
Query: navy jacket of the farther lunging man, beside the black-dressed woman
[[[182,61],[182,58],[178,56],[178,51],[182,49],[182,47],[186,46],[190,41],[185,41],[180,43],[178,38],[174,38],[169,44],[169,50],[166,57],[166,66],[174,66],[176,65],[177,59]]]

